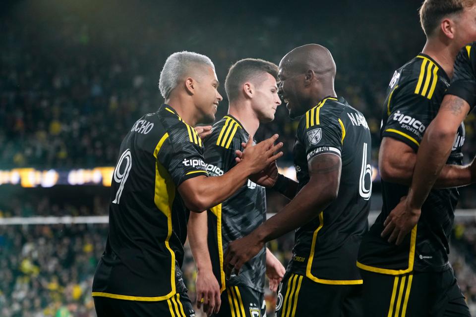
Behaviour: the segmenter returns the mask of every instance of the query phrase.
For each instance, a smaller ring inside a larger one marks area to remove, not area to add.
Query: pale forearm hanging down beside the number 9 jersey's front
[[[188,220],[188,243],[198,270],[212,270],[208,252],[207,213],[191,212]]]

